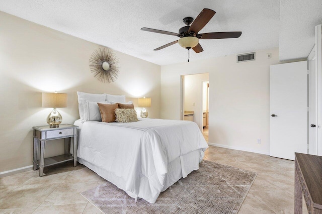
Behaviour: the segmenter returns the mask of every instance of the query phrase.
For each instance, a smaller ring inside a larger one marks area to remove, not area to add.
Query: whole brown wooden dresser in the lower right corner
[[[294,213],[302,213],[302,194],[308,213],[322,214],[322,157],[295,153]]]

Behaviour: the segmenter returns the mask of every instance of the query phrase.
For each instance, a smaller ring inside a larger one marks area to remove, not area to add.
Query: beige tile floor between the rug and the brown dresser
[[[294,161],[213,146],[204,159],[258,173],[239,214],[294,213]]]

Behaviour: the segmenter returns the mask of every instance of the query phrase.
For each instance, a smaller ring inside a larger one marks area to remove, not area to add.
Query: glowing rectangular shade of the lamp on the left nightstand
[[[42,93],[42,106],[46,108],[67,107],[66,93]]]

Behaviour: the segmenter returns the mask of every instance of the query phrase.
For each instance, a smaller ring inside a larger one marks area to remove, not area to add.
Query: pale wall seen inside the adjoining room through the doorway
[[[208,80],[209,73],[185,76],[185,111],[194,111],[193,121],[202,127],[202,80]]]

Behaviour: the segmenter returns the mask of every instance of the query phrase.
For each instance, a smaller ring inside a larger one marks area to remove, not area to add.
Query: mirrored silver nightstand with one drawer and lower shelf
[[[34,129],[34,170],[39,168],[39,177],[44,175],[44,167],[57,163],[73,160],[77,164],[77,128],[69,124],[60,124],[59,128],[49,126],[36,126]],[[65,139],[65,154],[45,158],[45,147],[47,141]],[[72,139],[73,154],[69,153]]]

